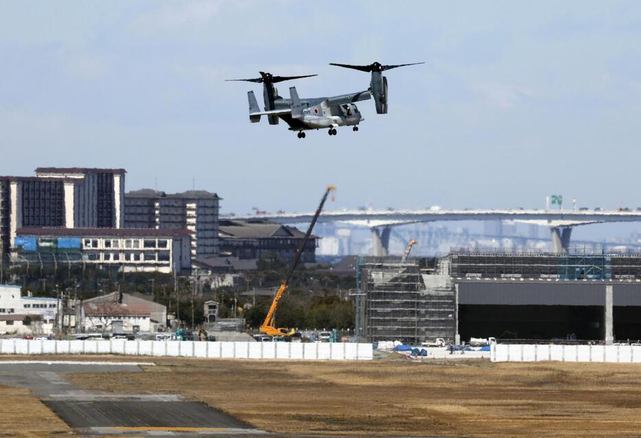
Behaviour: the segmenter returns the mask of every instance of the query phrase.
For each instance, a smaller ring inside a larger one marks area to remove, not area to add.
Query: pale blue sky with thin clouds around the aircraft
[[[124,167],[127,187],[204,188],[225,212],[641,206],[638,1],[0,1],[0,174]],[[301,97],[387,73],[359,132],[250,124],[224,82]]]

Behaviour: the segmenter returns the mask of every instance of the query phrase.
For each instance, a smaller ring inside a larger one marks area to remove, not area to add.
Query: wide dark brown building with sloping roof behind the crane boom
[[[266,219],[224,219],[220,221],[220,254],[241,259],[271,258],[291,260],[301,245],[304,232]],[[316,261],[318,237],[310,236],[301,262]]]

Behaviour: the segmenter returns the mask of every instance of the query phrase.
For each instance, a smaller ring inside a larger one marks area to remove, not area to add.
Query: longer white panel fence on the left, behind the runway
[[[237,359],[371,361],[371,343],[48,341],[0,339],[0,354],[126,354]]]

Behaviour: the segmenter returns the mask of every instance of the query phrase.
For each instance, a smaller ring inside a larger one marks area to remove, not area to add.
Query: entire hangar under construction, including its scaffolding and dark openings
[[[359,258],[362,337],[641,339],[641,254],[456,251],[436,269],[420,261]]]

